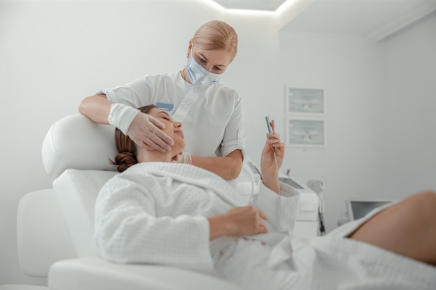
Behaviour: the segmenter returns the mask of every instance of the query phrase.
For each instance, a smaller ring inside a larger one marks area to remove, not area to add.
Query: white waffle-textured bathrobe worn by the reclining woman
[[[244,206],[224,179],[195,166],[140,163],[104,185],[95,204],[102,256],[164,264],[223,277],[242,289],[436,289],[436,269],[345,239],[366,218],[326,236],[293,236],[299,195],[261,186],[256,207],[268,234],[209,241],[207,217]]]

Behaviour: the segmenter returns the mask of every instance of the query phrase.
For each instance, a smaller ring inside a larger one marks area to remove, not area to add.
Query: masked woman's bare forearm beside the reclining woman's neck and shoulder
[[[241,150],[235,150],[224,157],[192,156],[192,164],[214,172],[224,179],[235,179],[240,175],[243,156]]]

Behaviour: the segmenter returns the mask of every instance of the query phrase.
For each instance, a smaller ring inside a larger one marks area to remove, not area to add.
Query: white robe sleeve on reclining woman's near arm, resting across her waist
[[[212,271],[203,216],[157,216],[146,186],[114,177],[95,203],[95,243],[105,259]]]

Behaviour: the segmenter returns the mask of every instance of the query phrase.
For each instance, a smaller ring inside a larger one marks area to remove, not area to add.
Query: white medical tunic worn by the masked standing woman
[[[196,156],[226,156],[239,149],[244,154],[244,115],[242,98],[221,83],[196,88],[180,72],[146,75],[101,90],[112,103],[134,108],[149,104],[172,106],[170,115],[182,122],[187,146]]]

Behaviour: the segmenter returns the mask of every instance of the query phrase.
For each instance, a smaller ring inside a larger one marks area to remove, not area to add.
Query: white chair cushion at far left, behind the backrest
[[[17,212],[17,250],[22,273],[47,277],[49,267],[77,257],[54,189],[24,195]]]

